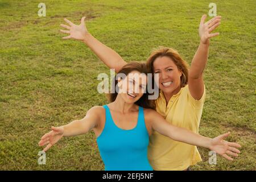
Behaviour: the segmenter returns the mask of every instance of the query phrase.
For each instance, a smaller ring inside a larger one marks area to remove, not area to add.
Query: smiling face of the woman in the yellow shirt
[[[164,93],[175,93],[180,90],[182,72],[170,57],[157,57],[153,63],[154,73],[159,74],[159,89]]]

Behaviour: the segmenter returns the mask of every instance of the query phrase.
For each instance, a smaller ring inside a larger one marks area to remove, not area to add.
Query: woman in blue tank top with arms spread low
[[[144,73],[144,74],[141,74]],[[229,133],[207,138],[166,122],[154,110],[154,100],[148,100],[146,64],[135,61],[126,64],[115,77],[116,89],[110,94],[110,104],[94,106],[83,119],[68,125],[52,127],[43,135],[39,146],[47,151],[62,137],[71,137],[93,130],[105,170],[152,170],[147,159],[147,146],[152,130],[179,142],[209,148],[217,154],[240,153],[237,143],[223,140]]]

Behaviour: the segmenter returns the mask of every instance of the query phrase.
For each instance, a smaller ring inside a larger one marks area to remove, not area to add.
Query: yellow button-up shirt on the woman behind
[[[161,91],[156,100],[156,111],[172,125],[198,133],[204,101],[205,87],[203,97],[195,100],[186,85],[171,97],[168,104]],[[148,159],[157,171],[184,170],[202,160],[196,146],[176,142],[156,131],[150,136]]]

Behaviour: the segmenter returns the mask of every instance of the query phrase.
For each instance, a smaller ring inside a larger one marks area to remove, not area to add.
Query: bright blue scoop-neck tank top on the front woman
[[[147,159],[149,136],[144,122],[143,107],[139,107],[137,126],[123,130],[115,125],[109,107],[105,126],[97,138],[101,158],[106,171],[152,171]]]

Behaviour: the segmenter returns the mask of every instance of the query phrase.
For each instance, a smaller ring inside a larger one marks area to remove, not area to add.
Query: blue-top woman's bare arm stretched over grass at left
[[[75,137],[77,135],[85,134],[97,126],[100,120],[100,106],[94,106],[88,110],[85,117],[80,120],[75,120],[68,125],[51,127],[51,131],[44,134],[38,143],[39,146],[47,145],[43,151],[47,151],[55,143],[57,143],[62,137]]]

